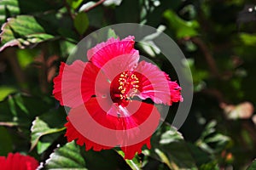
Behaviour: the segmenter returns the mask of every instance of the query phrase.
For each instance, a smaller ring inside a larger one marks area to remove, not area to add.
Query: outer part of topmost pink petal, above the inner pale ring
[[[119,38],[109,38],[107,42],[102,42],[87,52],[88,59],[98,68],[108,63],[109,60],[123,54],[138,56],[138,51],[134,49],[134,37],[126,37],[123,40]]]

